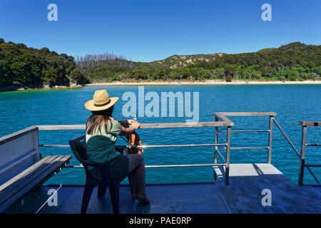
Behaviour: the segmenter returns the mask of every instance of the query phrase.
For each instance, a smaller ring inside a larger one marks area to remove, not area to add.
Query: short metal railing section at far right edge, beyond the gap
[[[307,143],[307,126],[321,126],[320,121],[314,121],[314,122],[307,122],[307,121],[300,121],[300,125],[302,125],[302,138],[301,138],[301,152],[300,152],[300,171],[299,171],[299,185],[303,184],[303,177],[304,177],[304,171],[305,167],[307,167],[308,170],[310,170],[310,167],[321,167],[321,164],[307,164],[305,162],[305,149],[307,146],[321,146],[320,143]],[[315,177],[312,171],[310,171],[312,176]],[[314,184],[312,186],[321,186],[320,181],[317,180],[317,177],[315,177],[315,180],[317,181],[317,184]],[[311,185],[310,185],[311,186]]]

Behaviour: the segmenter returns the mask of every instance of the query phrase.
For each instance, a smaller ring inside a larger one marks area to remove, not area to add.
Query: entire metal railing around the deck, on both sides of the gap
[[[132,146],[138,148],[156,148],[156,147],[214,147],[214,162],[213,164],[184,164],[184,165],[146,165],[146,168],[154,167],[204,167],[211,166],[214,169],[214,180],[217,180],[217,173],[215,170],[220,167],[225,167],[224,172],[224,182],[225,185],[228,185],[229,172],[230,172],[230,150],[267,150],[267,163],[271,164],[272,158],[272,125],[275,123],[277,128],[280,130],[280,133],[285,137],[287,142],[290,144],[292,149],[295,151],[298,157],[300,157],[300,177],[299,185],[302,185],[303,180],[303,171],[306,167],[310,172],[315,181],[320,184],[319,180],[312,172],[310,167],[321,167],[321,165],[312,165],[305,164],[305,147],[306,146],[320,146],[321,144],[317,143],[305,143],[306,140],[306,128],[307,125],[317,125],[320,126],[320,122],[300,122],[302,125],[302,149],[301,153],[295,148],[295,145],[291,142],[290,138],[287,137],[285,131],[281,128],[277,120],[275,120],[276,113],[265,112],[265,113],[213,113],[215,115],[214,122],[200,122],[195,124],[186,124],[186,123],[142,123],[141,128],[203,128],[203,127],[214,127],[215,128],[215,140],[214,143],[208,144],[188,144],[188,145],[132,145],[128,143],[126,147],[130,148]],[[269,128],[268,130],[231,130],[231,127],[234,126],[233,121],[228,119],[228,116],[268,116]],[[226,130],[219,130],[220,127],[226,128]],[[39,125],[39,130],[85,130],[85,125]],[[221,133],[226,133],[226,138],[223,137]],[[268,133],[267,137],[267,146],[262,147],[231,147],[231,133]],[[223,143],[219,143],[218,140],[223,140]],[[223,146],[223,147],[222,147]],[[69,145],[39,145],[39,147],[69,147]],[[225,150],[225,157],[223,156],[221,150]],[[223,160],[223,163],[218,163],[218,155]],[[82,166],[73,166],[73,167],[82,167]],[[222,172],[222,173],[223,173]]]

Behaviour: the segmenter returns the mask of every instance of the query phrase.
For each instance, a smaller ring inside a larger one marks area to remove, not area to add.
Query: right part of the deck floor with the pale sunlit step
[[[230,185],[218,188],[233,213],[321,213],[321,187],[301,187],[269,164],[230,165]],[[270,207],[262,205],[264,189]]]

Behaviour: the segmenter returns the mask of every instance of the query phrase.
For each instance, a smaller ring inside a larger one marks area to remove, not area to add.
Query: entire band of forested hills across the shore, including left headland
[[[0,38],[0,88],[111,81],[320,80],[321,46],[289,43],[253,53],[170,56],[150,63],[105,53],[67,56]]]

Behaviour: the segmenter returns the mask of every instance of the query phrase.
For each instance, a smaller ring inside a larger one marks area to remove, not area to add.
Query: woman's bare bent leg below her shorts
[[[131,187],[135,187],[136,185],[136,198],[142,199],[140,202],[149,203],[148,197],[146,195],[146,174],[145,174],[145,164],[143,160],[143,156],[139,154],[126,155],[129,160],[129,169],[128,169],[128,177],[130,178]],[[133,190],[132,190],[133,191]],[[133,192],[132,192],[133,196]]]

